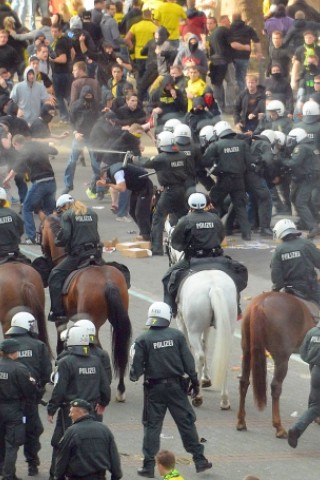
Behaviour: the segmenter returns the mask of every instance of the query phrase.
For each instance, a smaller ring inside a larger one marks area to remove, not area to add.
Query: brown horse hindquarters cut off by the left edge
[[[28,309],[37,319],[39,339],[49,346],[44,303],[43,283],[34,268],[11,261],[0,265],[0,319],[3,333],[9,330],[14,313]]]

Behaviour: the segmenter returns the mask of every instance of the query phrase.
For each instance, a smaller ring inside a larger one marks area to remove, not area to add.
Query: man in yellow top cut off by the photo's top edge
[[[179,46],[180,23],[185,23],[187,15],[176,0],[167,0],[154,11],[154,20],[158,25],[165,27],[169,32],[169,40],[175,46]]]

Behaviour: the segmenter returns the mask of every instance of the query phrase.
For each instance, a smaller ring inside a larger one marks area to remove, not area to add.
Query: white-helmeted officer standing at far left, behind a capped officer
[[[43,425],[39,416],[38,402],[41,400],[46,384],[50,381],[51,360],[47,346],[34,338],[37,333],[37,322],[29,312],[18,312],[11,320],[11,328],[5,333],[19,342],[18,359],[29,370],[37,386],[37,395],[28,398],[25,404],[26,442],[24,456],[28,462],[28,475],[38,474],[40,459],[40,435]]]

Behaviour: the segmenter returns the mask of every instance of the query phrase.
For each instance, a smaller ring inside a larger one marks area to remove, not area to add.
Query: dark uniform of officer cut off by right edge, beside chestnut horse
[[[308,409],[301,415],[288,432],[288,442],[293,448],[297,439],[317,417],[320,416],[320,327],[309,330],[300,347],[302,360],[309,363],[311,370]]]

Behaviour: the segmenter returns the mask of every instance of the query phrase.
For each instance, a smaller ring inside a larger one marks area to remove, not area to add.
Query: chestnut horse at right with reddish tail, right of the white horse
[[[280,417],[282,383],[287,375],[290,355],[313,326],[314,319],[306,305],[291,294],[266,292],[252,300],[242,321],[243,357],[237,430],[247,429],[245,398],[251,370],[255,403],[259,410],[267,404],[267,350],[274,361],[272,424],[277,438],[287,438]]]

